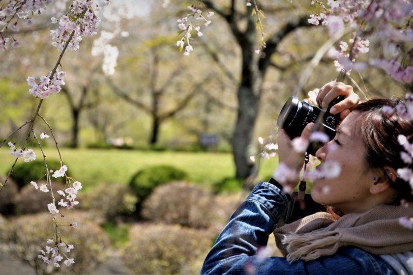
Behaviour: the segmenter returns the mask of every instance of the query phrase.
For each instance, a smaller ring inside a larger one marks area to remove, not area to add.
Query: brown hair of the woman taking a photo
[[[412,163],[406,164],[400,157],[405,151],[398,142],[398,136],[404,135],[412,143],[413,120],[402,118],[398,114],[390,115],[384,112],[382,107],[395,108],[398,104],[404,104],[402,99],[376,98],[360,103],[353,111],[360,111],[361,116],[357,122],[359,133],[366,147],[364,157],[366,168],[383,169],[385,166],[397,171],[398,168],[412,168]],[[399,204],[401,199],[413,202],[412,189],[408,182],[397,177],[394,182],[384,171],[384,176],[390,182],[390,186],[398,192],[394,204]]]

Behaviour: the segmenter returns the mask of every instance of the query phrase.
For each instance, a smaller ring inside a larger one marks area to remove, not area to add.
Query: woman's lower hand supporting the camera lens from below
[[[304,130],[301,133],[301,136],[299,137],[299,139],[301,139],[300,141],[304,143],[308,142],[314,125],[314,123],[310,122],[305,126]],[[290,169],[292,169],[296,175],[296,178],[294,179],[289,177],[289,181],[280,182],[281,185],[288,186],[291,189],[295,188],[295,186],[298,184],[299,172],[304,165],[304,159],[305,152],[300,153],[295,151],[291,138],[287,135],[284,129],[280,129],[278,131],[278,165],[284,163]]]

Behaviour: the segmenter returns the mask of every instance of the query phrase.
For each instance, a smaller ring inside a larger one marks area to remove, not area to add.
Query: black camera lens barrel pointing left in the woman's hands
[[[297,97],[290,97],[281,109],[277,119],[277,125],[283,128],[291,139],[301,136],[305,126],[310,122],[316,122],[321,110],[299,101]]]

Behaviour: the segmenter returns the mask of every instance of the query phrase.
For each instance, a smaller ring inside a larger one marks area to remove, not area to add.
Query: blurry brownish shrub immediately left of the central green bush
[[[99,213],[107,220],[130,215],[136,209],[137,197],[127,185],[101,184],[83,195],[82,207]]]

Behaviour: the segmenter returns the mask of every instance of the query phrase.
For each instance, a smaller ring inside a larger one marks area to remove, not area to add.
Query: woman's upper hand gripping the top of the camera
[[[331,107],[332,114],[340,113],[340,119],[343,120],[349,115],[350,109],[358,105],[360,98],[353,91],[353,87],[342,82],[329,82],[325,84],[317,94],[317,103],[321,109],[327,108],[328,104],[338,96],[344,99]]]

